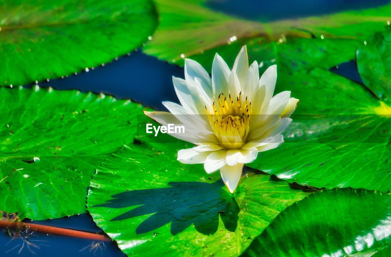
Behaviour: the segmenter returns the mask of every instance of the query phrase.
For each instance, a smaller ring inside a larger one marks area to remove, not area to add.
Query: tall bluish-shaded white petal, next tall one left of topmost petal
[[[217,98],[220,93],[228,93],[228,77],[230,69],[225,61],[216,53],[212,64],[212,92]]]

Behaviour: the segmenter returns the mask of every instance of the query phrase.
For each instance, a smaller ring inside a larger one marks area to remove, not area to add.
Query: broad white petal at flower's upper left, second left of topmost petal
[[[210,79],[208,72],[196,61],[185,59],[185,79],[194,81],[195,78],[201,80],[203,90],[209,97],[212,97],[212,79]]]

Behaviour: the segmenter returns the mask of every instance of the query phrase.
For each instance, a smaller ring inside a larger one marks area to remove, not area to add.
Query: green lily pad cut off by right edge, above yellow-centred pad
[[[387,105],[391,104],[391,31],[377,33],[357,50],[362,81]],[[391,110],[391,109],[390,109]]]

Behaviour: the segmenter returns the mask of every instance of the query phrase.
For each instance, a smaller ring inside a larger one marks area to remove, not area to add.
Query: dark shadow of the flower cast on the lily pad
[[[188,226],[204,234],[214,234],[219,216],[228,231],[234,232],[239,219],[235,198],[224,190],[221,180],[205,182],[169,182],[170,187],[126,191],[111,196],[113,199],[94,207],[133,208],[111,221],[152,214],[136,228],[136,234],[151,232],[171,223],[171,234],[176,235]]]

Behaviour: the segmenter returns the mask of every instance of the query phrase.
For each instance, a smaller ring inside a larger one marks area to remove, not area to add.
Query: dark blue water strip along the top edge
[[[289,18],[330,14],[338,11],[360,10],[384,5],[389,0],[209,0],[207,5],[216,11],[248,20],[268,22]]]

